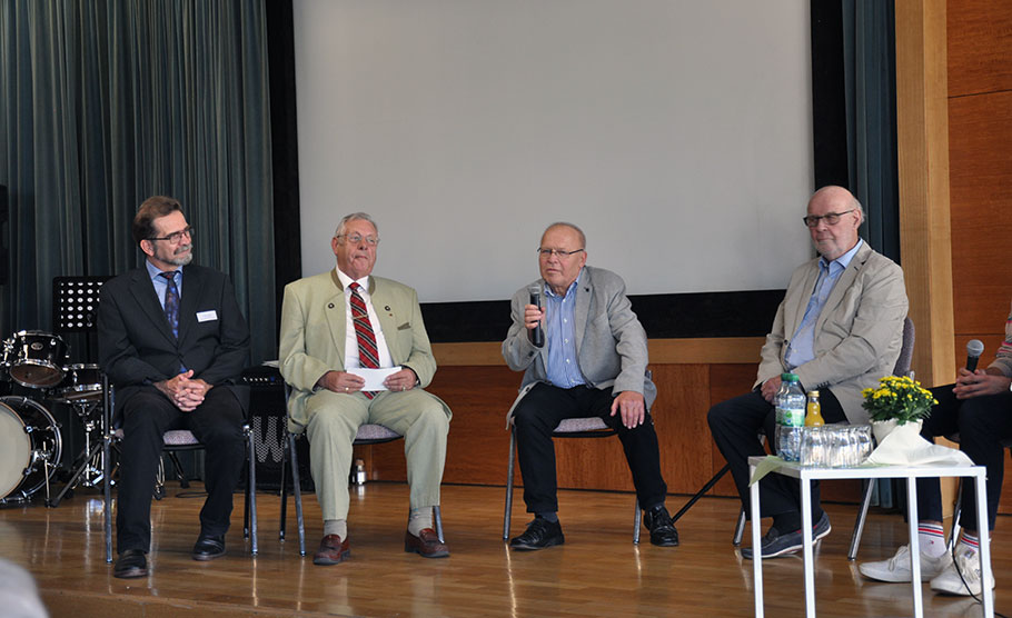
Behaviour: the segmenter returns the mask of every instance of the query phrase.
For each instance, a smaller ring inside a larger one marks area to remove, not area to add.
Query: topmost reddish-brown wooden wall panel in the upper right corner
[[[947,21],[949,96],[1012,90],[1012,2],[952,1]]]

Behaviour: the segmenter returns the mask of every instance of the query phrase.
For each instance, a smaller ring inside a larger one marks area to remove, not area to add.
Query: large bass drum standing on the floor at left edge
[[[0,397],[0,499],[23,501],[41,489],[56,472],[62,446],[49,410],[26,397]]]

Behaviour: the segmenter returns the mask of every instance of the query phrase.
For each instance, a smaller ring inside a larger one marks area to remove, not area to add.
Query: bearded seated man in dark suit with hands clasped
[[[207,447],[207,501],[195,560],[225,555],[232,492],[245,461],[244,408],[235,380],[249,329],[228,278],[188,266],[192,228],[172,198],[146,200],[133,218],[145,266],[109,280],[98,310],[99,356],[122,419],[116,577],[143,577],[151,494],[162,435],[189,429]]]

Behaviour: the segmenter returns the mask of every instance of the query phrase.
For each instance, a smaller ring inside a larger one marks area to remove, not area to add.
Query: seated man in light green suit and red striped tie
[[[280,369],[292,389],[291,422],[309,438],[310,472],[324,515],[317,565],[336,565],[350,554],[351,441],[365,423],[405,438],[411,488],[405,550],[449,556],[433,529],[433,507],[439,504],[450,410],[423,390],[433,380],[436,359],[417,293],[371,276],[378,245],[371,218],[348,215],[330,241],[337,268],[285,287]],[[384,390],[363,390],[363,376],[375,369],[393,369]]]

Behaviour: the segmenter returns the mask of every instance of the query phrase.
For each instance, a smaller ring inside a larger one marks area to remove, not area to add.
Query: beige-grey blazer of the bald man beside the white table
[[[791,276],[763,346],[756,386],[786,371],[786,338],[794,336],[804,318],[817,277],[817,259]],[[867,422],[861,390],[876,387],[879,378],[892,373],[903,343],[906,309],[903,270],[863,243],[815,322],[815,358],[794,369],[801,383],[806,389],[829,387],[847,420]]]

